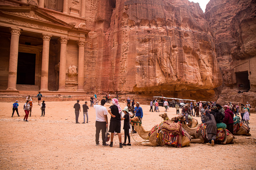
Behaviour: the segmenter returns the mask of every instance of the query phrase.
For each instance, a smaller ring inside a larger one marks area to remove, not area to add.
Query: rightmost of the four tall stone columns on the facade
[[[78,86],[77,91],[84,91],[84,45],[86,41],[78,41]]]

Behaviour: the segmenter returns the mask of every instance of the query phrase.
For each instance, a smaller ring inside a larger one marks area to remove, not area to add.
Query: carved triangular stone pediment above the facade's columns
[[[5,15],[10,18],[22,19],[22,20],[33,20],[34,22],[46,22],[49,24],[56,24],[59,26],[68,26],[72,28],[70,24],[57,19],[44,11],[41,11],[33,6],[16,7],[16,6],[0,6],[0,15]]]

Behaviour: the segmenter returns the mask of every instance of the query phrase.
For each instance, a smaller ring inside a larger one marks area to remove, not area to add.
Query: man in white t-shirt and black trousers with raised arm
[[[96,122],[95,122],[95,127],[96,127],[96,146],[99,145],[100,141],[100,130],[101,130],[101,137],[102,137],[102,146],[108,146],[108,144],[106,144],[105,142],[105,135],[106,135],[106,131],[108,128],[108,111],[107,108],[104,107],[106,100],[102,99],[100,101],[100,105],[98,105],[99,100],[97,100],[95,103],[93,103],[93,108],[96,111]],[[96,105],[95,105],[96,104]]]

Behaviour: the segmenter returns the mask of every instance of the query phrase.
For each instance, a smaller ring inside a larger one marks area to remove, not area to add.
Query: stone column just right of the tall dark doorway
[[[48,91],[48,64],[49,64],[49,46],[52,35],[42,33],[43,35],[43,55],[42,55],[42,73],[41,73],[41,91]]]

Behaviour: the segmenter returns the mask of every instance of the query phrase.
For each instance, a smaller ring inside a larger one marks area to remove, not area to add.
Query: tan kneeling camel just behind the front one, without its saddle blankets
[[[183,116],[178,116],[178,117],[173,117],[172,119],[171,119],[171,121],[174,121],[174,120],[183,120]],[[199,126],[199,125],[198,125]],[[201,130],[202,130],[202,127],[200,127],[200,129],[198,130],[198,132],[196,132],[196,130],[197,130],[197,128],[198,128],[198,126],[197,127],[195,127],[195,128],[189,128],[188,126],[187,126],[187,124],[185,123],[185,121],[182,121],[182,127],[188,132],[188,134],[190,135],[190,136],[192,136],[192,137],[194,137],[194,139],[191,139],[191,143],[207,143],[208,142],[208,139],[207,139],[207,136],[205,137],[205,138],[203,138],[203,136],[202,136],[202,134],[201,134]],[[235,137],[231,134],[231,133],[229,133],[229,135],[227,136],[227,142],[226,142],[226,144],[233,144],[234,142],[233,142],[233,139],[234,139]]]

